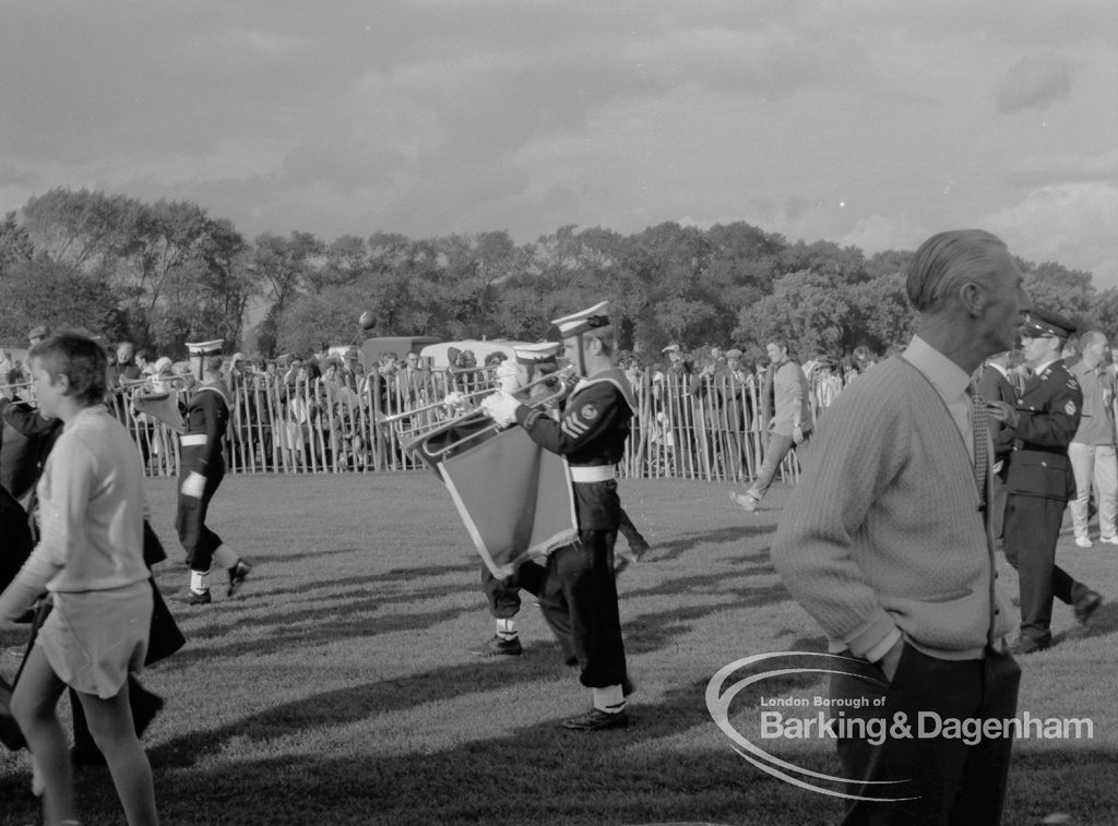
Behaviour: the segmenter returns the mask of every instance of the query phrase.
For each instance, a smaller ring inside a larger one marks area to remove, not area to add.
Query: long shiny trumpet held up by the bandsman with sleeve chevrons
[[[521,396],[534,388],[546,386],[550,391],[546,396],[527,399],[524,403],[532,408],[544,407],[565,397],[572,387],[575,369],[563,368],[553,373],[533,379],[512,391],[513,396]],[[475,390],[471,393],[457,393],[458,399],[464,402],[498,392],[494,388]],[[415,410],[406,410],[395,416],[386,416],[379,424],[391,427],[400,439],[400,447],[405,450],[418,450],[425,457],[440,459],[462,449],[467,443],[487,438],[498,433],[501,426],[492,421],[480,408],[466,410],[451,418],[432,418],[432,416],[447,407],[446,401],[436,401]],[[418,420],[417,420],[418,419]],[[486,421],[489,424],[486,424]],[[455,431],[464,431],[457,435]],[[437,437],[448,436],[445,444],[439,443],[433,447]]]

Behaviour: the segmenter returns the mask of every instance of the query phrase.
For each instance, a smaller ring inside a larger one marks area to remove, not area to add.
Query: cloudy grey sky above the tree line
[[[0,209],[248,237],[977,226],[1118,285],[1118,3],[0,0]]]

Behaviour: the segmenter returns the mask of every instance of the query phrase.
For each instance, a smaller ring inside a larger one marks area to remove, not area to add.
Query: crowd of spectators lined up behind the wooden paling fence
[[[184,399],[195,383],[189,363],[129,342],[108,349],[112,407],[140,444],[148,472],[173,474],[173,435],[132,401],[140,393]],[[882,358],[890,354],[887,350]],[[490,354],[479,363],[474,352],[456,348],[447,355],[447,368],[433,369],[414,352],[387,352],[367,363],[356,346],[324,345],[306,355],[285,353],[275,359],[234,353],[224,369],[234,398],[229,467],[313,472],[416,466],[401,447],[407,434],[391,433],[379,423],[437,408],[451,392],[480,393],[495,387],[496,368],[504,358]],[[822,352],[798,355],[793,351],[807,378],[813,420],[878,362],[868,348],[839,358]],[[1076,358],[1072,351],[1068,355]],[[689,351],[673,343],[651,361],[622,351],[618,364],[641,407],[631,448],[638,458],[628,473],[733,480],[756,474],[774,412],[774,370],[758,350],[703,345]],[[1106,364],[1112,376],[1109,357]],[[21,383],[20,367],[0,355],[7,384]],[[1027,367],[1016,353],[1010,354],[1007,374],[1020,391]],[[794,473],[795,462],[786,467]]]

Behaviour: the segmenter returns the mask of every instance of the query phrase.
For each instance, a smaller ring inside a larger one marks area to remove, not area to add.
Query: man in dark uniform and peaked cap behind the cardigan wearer
[[[1079,427],[1083,395],[1060,351],[1076,325],[1059,313],[1034,307],[1021,331],[1021,349],[1033,376],[1013,407],[991,402],[991,415],[1013,435],[1006,488],[1005,558],[1021,585],[1021,637],[1014,654],[1052,645],[1052,598],[1070,605],[1086,623],[1102,598],[1055,563],[1055,544],[1076,477],[1068,445]]]

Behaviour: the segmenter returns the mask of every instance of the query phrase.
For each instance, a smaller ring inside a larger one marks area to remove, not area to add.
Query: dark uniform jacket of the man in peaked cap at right
[[[1005,484],[1010,494],[1067,502],[1076,495],[1068,445],[1079,429],[1083,392],[1063,361],[1029,379],[1021,395],[1021,420],[1012,429],[1013,453]]]

